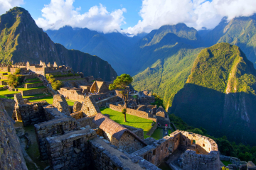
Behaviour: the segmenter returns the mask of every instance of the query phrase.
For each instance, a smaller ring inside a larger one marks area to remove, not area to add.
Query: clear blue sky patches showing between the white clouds
[[[45,4],[50,4],[50,0],[24,0],[21,7],[26,8],[26,10],[31,14],[33,19],[38,19],[41,17],[41,10],[43,9]],[[139,11],[142,6],[142,0],[75,0],[73,6],[75,8],[81,7],[80,13],[87,12],[92,6],[99,6],[102,4],[107,7],[107,11],[114,11],[119,8],[126,8],[127,12],[123,14],[125,18],[125,22],[122,26],[123,29],[127,29],[128,27],[135,26],[139,20],[142,20],[142,17],[139,16]]]

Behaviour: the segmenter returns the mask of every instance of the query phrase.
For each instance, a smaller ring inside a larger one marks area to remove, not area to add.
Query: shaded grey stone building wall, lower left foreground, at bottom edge
[[[87,127],[65,135],[47,137],[51,169],[85,169],[90,165],[90,146],[87,141],[96,136],[96,132]]]

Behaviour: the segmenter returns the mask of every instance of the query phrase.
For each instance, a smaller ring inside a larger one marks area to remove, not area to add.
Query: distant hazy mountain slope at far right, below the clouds
[[[218,42],[228,42],[238,45],[248,60],[256,67],[256,14],[248,17],[233,18],[229,23],[226,18],[213,30],[208,32],[203,39],[206,45]]]

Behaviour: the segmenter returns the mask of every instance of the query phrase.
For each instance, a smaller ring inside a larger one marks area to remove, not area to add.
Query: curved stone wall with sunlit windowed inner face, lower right
[[[220,169],[220,155],[218,145],[209,137],[198,135],[192,132],[176,130],[170,134],[173,151],[178,145],[196,146],[196,151],[187,149],[181,156],[183,169]],[[198,146],[208,154],[198,154]]]

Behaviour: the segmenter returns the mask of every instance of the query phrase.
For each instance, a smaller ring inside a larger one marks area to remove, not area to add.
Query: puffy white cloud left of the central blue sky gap
[[[43,30],[72,26],[109,33],[114,30],[120,31],[120,26],[125,24],[123,13],[127,12],[126,8],[109,12],[100,4],[92,6],[86,13],[80,13],[81,8],[74,8],[74,1],[51,0],[50,4],[42,9],[43,18],[36,20],[37,25]]]

